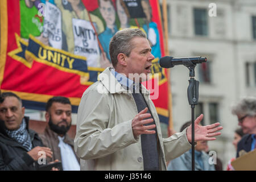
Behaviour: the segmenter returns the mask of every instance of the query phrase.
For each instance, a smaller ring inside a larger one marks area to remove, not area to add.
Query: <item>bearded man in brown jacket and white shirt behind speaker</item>
[[[53,152],[51,161],[60,160],[64,171],[79,171],[79,158],[73,150],[73,140],[67,134],[71,127],[71,112],[71,102],[67,97],[49,99],[46,104],[48,125],[44,133],[39,136],[43,144]]]

